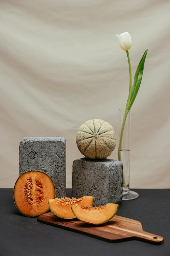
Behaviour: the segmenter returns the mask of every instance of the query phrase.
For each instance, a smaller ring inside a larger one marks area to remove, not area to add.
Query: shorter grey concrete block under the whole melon
[[[94,206],[119,204],[123,164],[120,161],[81,158],[73,161],[72,196],[94,196]]]

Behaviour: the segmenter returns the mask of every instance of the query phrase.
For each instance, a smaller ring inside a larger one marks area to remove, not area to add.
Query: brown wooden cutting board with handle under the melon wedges
[[[102,225],[91,225],[77,219],[64,220],[52,212],[39,216],[38,221],[108,242],[141,240],[157,245],[163,243],[163,237],[143,231],[142,224],[139,221],[117,215]]]

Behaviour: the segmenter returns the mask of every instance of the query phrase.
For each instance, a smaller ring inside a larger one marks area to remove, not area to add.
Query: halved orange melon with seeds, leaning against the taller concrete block
[[[22,214],[36,217],[50,210],[48,198],[55,198],[55,186],[47,174],[28,171],[17,179],[13,196]]]

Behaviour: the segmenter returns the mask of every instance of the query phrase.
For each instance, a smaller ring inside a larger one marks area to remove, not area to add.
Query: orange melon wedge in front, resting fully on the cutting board
[[[90,224],[102,224],[109,221],[118,211],[119,204],[106,204],[105,206],[84,206],[75,204],[71,206],[72,212],[79,220]]]

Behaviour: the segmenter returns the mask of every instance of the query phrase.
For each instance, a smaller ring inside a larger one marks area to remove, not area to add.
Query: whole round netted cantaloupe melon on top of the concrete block
[[[92,119],[80,126],[76,143],[85,157],[103,159],[110,156],[115,149],[116,134],[109,123],[101,119]]]

